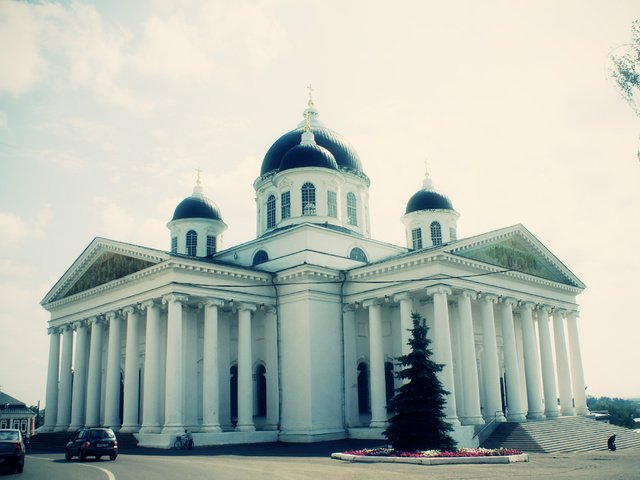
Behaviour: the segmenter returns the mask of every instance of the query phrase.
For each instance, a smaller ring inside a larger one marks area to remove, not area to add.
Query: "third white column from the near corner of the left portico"
[[[140,430],[138,419],[140,314],[137,307],[133,306],[124,308],[122,312],[127,316],[127,343],[124,356],[124,414],[120,431],[130,433]]]

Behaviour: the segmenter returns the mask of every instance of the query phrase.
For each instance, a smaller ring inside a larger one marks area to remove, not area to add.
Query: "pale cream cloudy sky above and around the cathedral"
[[[586,285],[587,394],[640,396],[640,119],[609,53],[633,1],[0,0],[0,386],[44,405],[46,292],[96,236],[168,249],[195,170],[255,238],[253,181],[302,120],[371,178],[373,238],[424,162],[459,238],[526,226]]]

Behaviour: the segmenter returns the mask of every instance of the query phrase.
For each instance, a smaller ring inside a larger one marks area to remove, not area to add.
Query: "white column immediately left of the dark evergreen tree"
[[[369,384],[371,388],[371,423],[369,427],[387,425],[384,350],[382,345],[382,307],[380,300],[367,300],[369,310]]]

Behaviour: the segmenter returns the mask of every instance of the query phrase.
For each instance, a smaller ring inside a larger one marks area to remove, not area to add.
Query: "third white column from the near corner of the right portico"
[[[484,367],[484,390],[487,401],[484,419],[487,422],[493,419],[496,422],[506,421],[502,412],[500,398],[500,364],[498,362],[498,343],[493,314],[493,305],[496,303],[498,303],[498,297],[495,295],[483,295],[480,298],[482,339],[484,343],[482,364]]]

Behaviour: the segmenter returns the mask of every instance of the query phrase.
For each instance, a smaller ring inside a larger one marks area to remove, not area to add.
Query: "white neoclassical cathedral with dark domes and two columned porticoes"
[[[401,217],[406,246],[374,240],[369,183],[310,100],[254,181],[254,240],[222,248],[199,180],[169,251],[94,239],[42,300],[42,430],[110,426],[157,447],[185,429],[196,445],[381,439],[412,312],[460,446],[489,423],[587,415],[585,285],[522,225],[458,239],[428,175]]]

